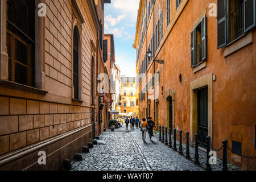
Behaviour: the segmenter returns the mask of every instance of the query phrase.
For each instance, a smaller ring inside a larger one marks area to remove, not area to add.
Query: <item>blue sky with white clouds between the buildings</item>
[[[136,76],[136,49],[133,48],[139,0],[112,0],[105,4],[105,34],[114,34],[115,63],[121,75]]]

